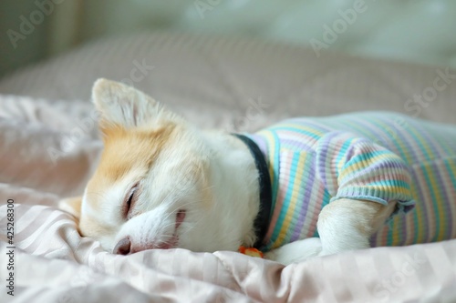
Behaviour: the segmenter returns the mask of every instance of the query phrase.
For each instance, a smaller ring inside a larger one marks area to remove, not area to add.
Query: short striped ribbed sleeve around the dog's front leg
[[[414,205],[409,167],[389,149],[347,132],[322,136],[316,146],[318,175],[331,201],[339,198],[368,200],[399,209]]]

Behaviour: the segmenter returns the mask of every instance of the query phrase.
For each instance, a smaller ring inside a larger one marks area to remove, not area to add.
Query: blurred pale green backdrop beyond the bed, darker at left
[[[0,76],[99,36],[142,30],[456,66],[454,0],[2,0]]]

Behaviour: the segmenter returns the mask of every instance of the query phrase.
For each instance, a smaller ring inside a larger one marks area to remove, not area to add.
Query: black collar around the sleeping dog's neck
[[[255,166],[258,170],[258,182],[260,184],[260,210],[254,220],[254,230],[256,242],[254,247],[259,249],[263,246],[264,237],[266,236],[267,228],[271,220],[271,208],[273,205],[273,193],[271,188],[271,178],[267,168],[266,160],[260,148],[247,136],[233,134],[238,137],[244,144],[249,147],[250,153],[254,157]]]

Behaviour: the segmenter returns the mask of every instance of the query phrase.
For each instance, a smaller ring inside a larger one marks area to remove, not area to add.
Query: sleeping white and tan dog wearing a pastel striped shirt
[[[376,112],[229,134],[106,79],[92,98],[104,150],[60,207],[115,254],[244,246],[289,264],[456,236],[456,126]]]

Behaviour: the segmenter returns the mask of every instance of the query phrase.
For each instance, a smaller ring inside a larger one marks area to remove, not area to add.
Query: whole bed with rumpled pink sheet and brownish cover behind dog
[[[446,86],[438,89],[442,75]],[[7,76],[0,81],[0,301],[455,302],[456,239],[286,267],[228,251],[117,256],[80,237],[75,218],[57,209],[61,197],[82,193],[102,148],[89,102],[98,77],[136,86],[199,126],[243,132],[286,116],[359,110],[456,123],[455,75],[446,66],[330,52],[316,58],[311,49],[260,40],[145,32]],[[11,251],[14,270],[6,270]]]

